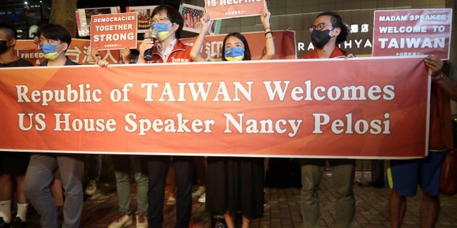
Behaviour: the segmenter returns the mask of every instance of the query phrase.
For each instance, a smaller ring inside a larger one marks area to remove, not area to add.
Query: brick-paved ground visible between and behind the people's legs
[[[388,195],[390,190],[369,185],[370,172],[357,172],[358,184],[354,188],[356,196],[356,219],[353,227],[389,227],[388,224]],[[114,186],[104,185],[103,193],[97,199],[86,199],[84,212],[81,217],[81,227],[107,227],[117,213],[117,197]],[[167,196],[168,197],[168,196]],[[330,173],[325,174],[319,190],[321,199],[321,227],[334,227],[335,203],[331,186]],[[420,227],[418,219],[418,200],[421,194],[408,200],[408,210],[403,227]],[[267,204],[265,214],[261,219],[253,220],[251,227],[301,227],[299,210],[300,190],[298,188],[266,188]],[[132,208],[136,207],[136,196],[131,201]],[[205,205],[194,202],[192,212],[192,227],[211,227],[210,214],[205,212]],[[173,227],[174,206],[165,206],[166,224]],[[39,227],[39,216],[30,212],[27,227]],[[132,225],[131,227],[135,227]],[[441,197],[441,213],[436,227],[457,227],[457,195]]]

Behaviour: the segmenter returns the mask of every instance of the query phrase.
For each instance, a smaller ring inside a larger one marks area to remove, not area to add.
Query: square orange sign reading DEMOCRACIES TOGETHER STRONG
[[[91,16],[91,47],[99,50],[136,48],[138,13]]]

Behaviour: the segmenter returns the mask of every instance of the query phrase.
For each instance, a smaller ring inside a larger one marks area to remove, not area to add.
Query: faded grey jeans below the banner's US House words
[[[56,205],[49,188],[57,169],[61,175],[65,196],[62,227],[77,228],[84,199],[84,155],[31,155],[24,185],[26,197],[41,215],[41,227],[58,227]]]

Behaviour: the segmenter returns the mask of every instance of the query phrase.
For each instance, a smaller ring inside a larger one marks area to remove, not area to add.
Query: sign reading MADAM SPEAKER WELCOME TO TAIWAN
[[[452,9],[374,11],[373,56],[449,59]]]

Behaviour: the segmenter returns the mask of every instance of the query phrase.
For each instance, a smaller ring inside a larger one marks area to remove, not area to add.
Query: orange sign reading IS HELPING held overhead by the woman
[[[211,20],[260,15],[264,6],[265,0],[205,0]]]

